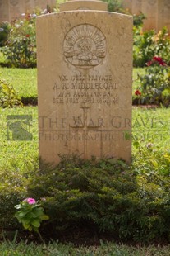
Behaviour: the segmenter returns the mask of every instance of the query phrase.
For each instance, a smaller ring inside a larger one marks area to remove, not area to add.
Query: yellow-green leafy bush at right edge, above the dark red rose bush
[[[170,39],[164,27],[158,34],[154,30],[142,31],[141,26],[134,26],[133,65],[145,67],[145,64],[154,56],[162,56],[170,61]]]

